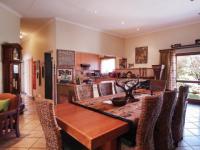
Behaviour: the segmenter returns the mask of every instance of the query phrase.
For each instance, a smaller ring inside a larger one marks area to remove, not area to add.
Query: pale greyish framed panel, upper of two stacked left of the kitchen
[[[75,51],[57,50],[57,67],[73,68],[75,66]]]

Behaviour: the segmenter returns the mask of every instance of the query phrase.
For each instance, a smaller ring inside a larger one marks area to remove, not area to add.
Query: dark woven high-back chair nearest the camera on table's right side
[[[163,103],[163,94],[147,96],[141,102],[141,115],[136,131],[136,146],[121,144],[122,150],[154,150],[154,128]]]

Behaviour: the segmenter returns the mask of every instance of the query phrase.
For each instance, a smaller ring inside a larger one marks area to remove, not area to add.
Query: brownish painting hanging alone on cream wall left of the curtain
[[[148,46],[135,48],[135,63],[146,64],[148,59]]]

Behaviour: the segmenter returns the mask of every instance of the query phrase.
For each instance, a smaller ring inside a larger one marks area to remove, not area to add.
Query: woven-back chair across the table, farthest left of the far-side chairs
[[[93,97],[94,97],[94,91],[92,84],[76,85],[75,87],[76,100],[84,100]]]

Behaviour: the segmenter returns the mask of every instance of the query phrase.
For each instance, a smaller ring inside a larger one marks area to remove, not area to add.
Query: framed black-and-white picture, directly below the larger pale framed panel
[[[73,82],[73,69],[57,69],[58,83],[71,83]]]

